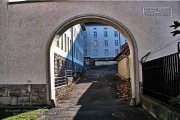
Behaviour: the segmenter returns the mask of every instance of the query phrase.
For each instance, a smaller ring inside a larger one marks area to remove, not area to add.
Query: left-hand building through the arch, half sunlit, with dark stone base
[[[65,70],[80,72],[84,66],[84,24],[72,26],[61,36],[56,35],[53,44],[54,75],[64,76]]]

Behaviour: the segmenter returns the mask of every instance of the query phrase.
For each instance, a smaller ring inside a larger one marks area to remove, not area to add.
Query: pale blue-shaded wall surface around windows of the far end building
[[[107,29],[105,29],[107,28]],[[104,36],[104,31],[107,31],[108,36]],[[111,26],[86,26],[87,37],[84,39],[87,41],[87,56],[90,58],[113,58],[117,54],[115,49],[118,49],[118,53],[120,52],[120,45],[124,43],[125,38],[118,32],[118,36],[115,37],[114,32],[117,31]],[[94,32],[97,32],[97,38],[94,37]],[[120,36],[119,36],[120,35]],[[94,46],[94,41],[97,40],[97,46]],[[108,40],[108,46],[105,46],[105,40]],[[118,46],[115,46],[115,40],[118,40]],[[105,55],[105,49],[108,50],[108,55]],[[94,50],[98,51],[98,55],[94,55]]]

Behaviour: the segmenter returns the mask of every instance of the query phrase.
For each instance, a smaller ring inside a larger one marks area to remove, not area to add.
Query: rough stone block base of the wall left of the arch
[[[0,84],[2,105],[46,105],[46,84]]]

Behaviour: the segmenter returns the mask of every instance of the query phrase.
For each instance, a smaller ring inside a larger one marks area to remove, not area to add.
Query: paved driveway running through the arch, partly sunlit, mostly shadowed
[[[117,95],[116,67],[93,68],[41,120],[154,120],[143,108],[131,107]]]

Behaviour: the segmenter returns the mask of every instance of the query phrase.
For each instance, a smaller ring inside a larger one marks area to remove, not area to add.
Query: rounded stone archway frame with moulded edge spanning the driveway
[[[139,97],[139,69],[138,69],[138,48],[136,41],[130,32],[130,30],[124,26],[121,22],[118,20],[115,20],[113,18],[110,18],[108,16],[99,15],[99,14],[84,14],[72,17],[65,22],[63,22],[61,25],[57,27],[56,30],[52,33],[52,35],[49,38],[49,41],[47,43],[47,49],[46,49],[46,75],[47,75],[47,100],[48,104],[50,104],[50,101],[55,99],[55,91],[53,89],[54,84],[52,82],[52,72],[51,72],[51,45],[54,40],[54,37],[56,34],[62,35],[68,28],[71,26],[74,26],[76,24],[84,23],[84,22],[99,22],[103,23],[109,26],[114,27],[117,29],[127,40],[129,49],[130,49],[130,59],[132,63],[130,64],[131,68],[131,88],[132,88],[132,98],[135,99],[136,104],[139,104],[140,97]],[[134,102],[134,101],[132,101]],[[130,103],[132,104],[132,103]]]

